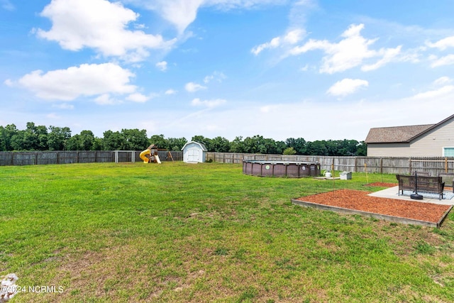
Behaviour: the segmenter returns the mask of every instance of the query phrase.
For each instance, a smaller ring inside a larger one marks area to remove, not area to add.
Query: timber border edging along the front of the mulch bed
[[[318,204],[314,202],[305,202],[297,199],[291,199],[292,204],[296,204],[299,206],[303,207],[311,207],[314,209],[321,209],[321,210],[327,210],[327,211],[335,211],[341,214],[359,214],[362,216],[370,216],[375,219],[380,219],[380,220],[386,220],[386,221],[392,221],[395,223],[401,223],[401,224],[414,224],[414,225],[421,225],[421,226],[428,226],[428,227],[436,227],[440,228],[441,224],[445,220],[446,216],[448,216],[449,211],[453,208],[453,206],[450,206],[447,211],[441,216],[441,219],[438,220],[438,222],[429,222],[429,221],[422,221],[422,220],[416,220],[416,219],[409,219],[409,218],[402,218],[400,216],[390,216],[387,214],[377,214],[377,213],[372,213],[369,211],[359,211],[356,209],[346,209],[344,207],[338,207],[338,206],[330,206],[330,205],[325,205],[325,204]]]

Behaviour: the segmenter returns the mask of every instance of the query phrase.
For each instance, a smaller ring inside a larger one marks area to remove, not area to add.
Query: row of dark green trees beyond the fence
[[[207,150],[219,153],[329,156],[367,154],[364,141],[346,139],[310,142],[304,138],[288,138],[286,141],[275,141],[256,135],[246,138],[238,136],[233,141],[221,136],[193,136],[191,141],[203,143]],[[165,138],[164,135],[148,138],[145,129],[138,128],[105,131],[103,138],[98,138],[92,131],[81,131],[72,136],[68,127],[37,126],[33,122],[28,122],[23,130],[19,130],[14,124],[0,126],[0,151],[143,150],[150,144],[165,150],[181,150],[187,142],[186,138]]]

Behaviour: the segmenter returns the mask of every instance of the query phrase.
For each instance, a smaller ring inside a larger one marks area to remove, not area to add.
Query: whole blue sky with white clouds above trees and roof
[[[452,0],[0,0],[0,125],[362,141],[438,123],[452,16]]]

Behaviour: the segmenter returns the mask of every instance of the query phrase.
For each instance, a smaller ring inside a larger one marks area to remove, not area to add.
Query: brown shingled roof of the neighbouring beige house
[[[370,128],[365,143],[409,143],[450,119],[454,115],[436,124]]]

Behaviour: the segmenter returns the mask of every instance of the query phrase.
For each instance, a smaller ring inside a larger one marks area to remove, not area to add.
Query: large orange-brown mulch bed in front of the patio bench
[[[297,200],[433,223],[440,221],[450,208],[450,205],[370,197],[367,194],[370,192],[339,189],[334,192],[301,197]]]

